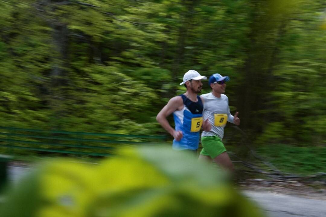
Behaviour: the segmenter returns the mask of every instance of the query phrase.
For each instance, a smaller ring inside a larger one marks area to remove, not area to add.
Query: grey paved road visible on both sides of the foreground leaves
[[[32,168],[9,166],[9,180],[17,183]],[[326,217],[326,201],[272,193],[268,191],[244,191],[244,195],[256,201],[269,217]]]

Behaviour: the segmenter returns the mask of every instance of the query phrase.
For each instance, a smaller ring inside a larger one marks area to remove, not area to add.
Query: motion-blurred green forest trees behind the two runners
[[[2,0],[1,125],[167,135],[156,114],[194,69],[231,78],[243,133],[226,128],[230,150],[245,141],[287,171],[325,171],[325,10],[322,0]]]

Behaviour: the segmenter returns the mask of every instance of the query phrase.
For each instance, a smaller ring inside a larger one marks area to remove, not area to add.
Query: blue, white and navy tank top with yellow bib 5
[[[181,130],[183,137],[180,141],[173,140],[173,149],[177,150],[196,150],[199,145],[199,131],[203,123],[202,112],[203,103],[200,96],[197,96],[198,101],[193,102],[184,94],[180,95],[183,99],[184,107],[182,110],[173,112],[175,130]]]

